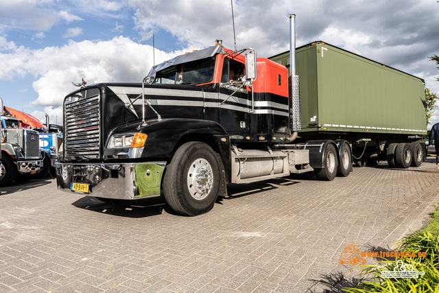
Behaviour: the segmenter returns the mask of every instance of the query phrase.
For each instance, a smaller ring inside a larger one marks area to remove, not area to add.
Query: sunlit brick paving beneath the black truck
[[[108,204],[34,180],[0,191],[0,292],[326,292],[355,283],[344,245],[385,250],[439,201],[434,158],[228,188],[189,218],[161,198]],[[373,259],[367,259],[373,263]]]

